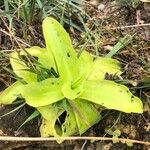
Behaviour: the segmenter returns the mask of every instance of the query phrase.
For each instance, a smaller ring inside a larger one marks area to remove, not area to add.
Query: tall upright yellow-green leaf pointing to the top
[[[68,33],[55,19],[47,17],[43,21],[43,34],[46,48],[54,58],[61,79],[71,81],[76,74],[77,54]]]

